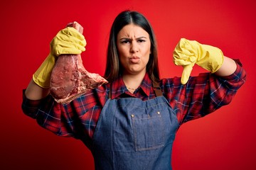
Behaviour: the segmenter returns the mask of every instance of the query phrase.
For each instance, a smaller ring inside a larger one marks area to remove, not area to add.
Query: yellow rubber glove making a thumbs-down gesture
[[[223,52],[218,47],[203,45],[181,38],[174,49],[174,64],[183,67],[181,84],[186,84],[194,64],[214,73],[223,64]]]

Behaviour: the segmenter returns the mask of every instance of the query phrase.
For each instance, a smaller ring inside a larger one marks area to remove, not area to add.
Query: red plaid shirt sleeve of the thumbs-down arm
[[[190,77],[188,83],[180,84],[180,78],[167,79],[166,98],[174,109],[180,125],[189,120],[201,118],[221,106],[230,103],[240,86],[245,83],[246,74],[240,62],[228,77],[202,73]]]

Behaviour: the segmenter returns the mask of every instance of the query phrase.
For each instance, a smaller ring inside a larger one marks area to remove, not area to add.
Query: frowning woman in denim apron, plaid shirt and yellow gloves
[[[230,103],[245,82],[239,62],[210,45],[182,38],[174,50],[181,78],[160,79],[156,40],[141,13],[123,11],[110,32],[108,84],[61,105],[49,95],[55,57],[80,54],[85,39],[65,28],[23,93],[23,112],[56,135],[75,137],[91,150],[95,169],[171,169],[179,126]],[[65,45],[63,45],[65,44]],[[189,77],[194,64],[211,73]]]

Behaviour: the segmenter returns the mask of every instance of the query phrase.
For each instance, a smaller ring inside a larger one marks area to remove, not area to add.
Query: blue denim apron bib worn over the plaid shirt
[[[108,99],[92,139],[95,169],[171,169],[177,129],[178,120],[164,96]]]

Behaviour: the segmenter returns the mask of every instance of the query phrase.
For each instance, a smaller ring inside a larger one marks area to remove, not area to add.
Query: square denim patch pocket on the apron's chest
[[[164,147],[164,123],[161,113],[156,111],[153,115],[131,115],[134,132],[134,145],[136,151]]]

